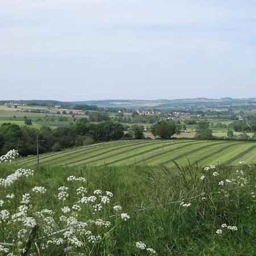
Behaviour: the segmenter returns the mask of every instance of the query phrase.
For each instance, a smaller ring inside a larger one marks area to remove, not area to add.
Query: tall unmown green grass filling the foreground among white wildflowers
[[[16,168],[15,164],[0,164],[0,177],[5,178]],[[9,218],[2,220],[0,242],[14,243],[15,246],[5,246],[14,255],[22,255],[20,249],[30,240],[28,254],[35,255],[151,255],[151,251],[135,245],[138,241],[158,255],[255,255],[255,171],[255,166],[246,164],[239,168],[216,166],[209,170],[190,165],[185,168],[147,165],[41,167],[33,176],[22,176],[9,187],[0,185],[0,200],[4,201],[0,211],[10,212]],[[86,183],[67,181],[71,175],[84,177]],[[46,188],[46,193],[33,192],[35,186]],[[58,199],[58,188],[62,186],[68,187],[69,193],[64,201]],[[97,204],[105,191],[114,196],[109,197],[109,204],[101,203],[102,209],[95,212],[96,202],[77,203],[82,196],[76,194],[76,189],[81,186],[86,188],[85,196],[97,197]],[[96,189],[102,194],[94,194]],[[11,193],[15,197],[6,199]],[[18,237],[24,225],[22,221],[10,221],[25,193],[31,196],[27,216],[36,220],[34,238],[29,237],[30,228],[23,237]],[[74,204],[81,207],[77,215],[75,210],[61,212],[61,208],[72,208]],[[115,211],[114,205],[121,205],[122,210]],[[53,211],[51,217],[55,225],[48,233],[44,230],[46,216],[35,215],[43,209]],[[130,218],[123,220],[121,213],[129,214]],[[61,222],[61,216],[92,222],[79,233],[77,226]],[[111,225],[106,228],[96,225],[98,218]],[[228,228],[222,228],[222,224]],[[72,236],[77,237],[81,246],[64,237],[65,231],[47,237],[61,229],[73,230]],[[89,242],[86,231],[101,238]],[[54,238],[62,238],[63,243],[56,245]],[[47,243],[49,240],[52,242]]]

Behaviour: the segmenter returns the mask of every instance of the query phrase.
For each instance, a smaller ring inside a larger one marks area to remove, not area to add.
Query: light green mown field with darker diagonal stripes
[[[164,164],[174,166],[226,164],[237,166],[240,161],[256,163],[256,142],[199,141],[188,139],[115,141],[71,148],[40,155],[41,165],[59,166],[120,166],[129,164]],[[36,165],[36,156],[19,160],[22,166]]]

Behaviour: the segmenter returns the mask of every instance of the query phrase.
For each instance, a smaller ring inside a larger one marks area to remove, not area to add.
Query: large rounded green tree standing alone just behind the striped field
[[[159,121],[152,127],[152,134],[161,139],[171,139],[172,135],[180,134],[180,126],[174,121]]]

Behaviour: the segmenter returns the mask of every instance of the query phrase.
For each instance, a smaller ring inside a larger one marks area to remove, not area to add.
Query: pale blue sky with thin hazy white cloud
[[[255,0],[0,0],[0,100],[256,97]]]

